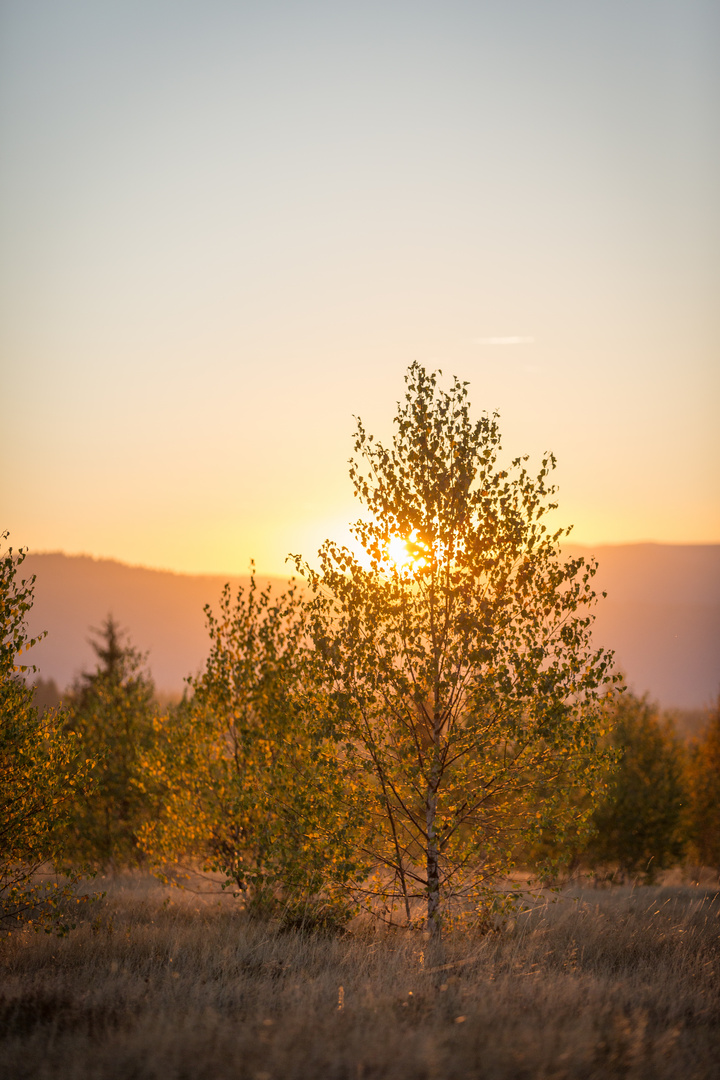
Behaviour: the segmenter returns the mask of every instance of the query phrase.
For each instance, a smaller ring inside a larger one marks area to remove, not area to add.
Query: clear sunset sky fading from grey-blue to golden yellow
[[[720,541],[717,0],[3,0],[0,528],[283,572],[418,360]]]

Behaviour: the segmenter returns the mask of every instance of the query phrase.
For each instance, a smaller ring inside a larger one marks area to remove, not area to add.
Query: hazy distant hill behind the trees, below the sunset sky
[[[614,648],[631,688],[664,707],[709,705],[720,691],[720,544],[573,545],[568,553],[598,558],[595,580],[608,598],[596,609],[595,638]],[[37,575],[30,631],[49,631],[33,657],[44,679],[64,688],[92,667],[90,627],[111,612],[149,652],[167,694],[181,692],[204,664],[203,606],[217,605],[226,581],[235,589],[248,580],[63,554],[28,555],[23,571]]]

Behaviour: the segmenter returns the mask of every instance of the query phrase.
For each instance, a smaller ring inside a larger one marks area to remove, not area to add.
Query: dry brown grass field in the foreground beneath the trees
[[[435,958],[419,934],[283,933],[167,896],[127,878],[69,937],[1,946],[2,1077],[718,1075],[717,890],[587,890]]]

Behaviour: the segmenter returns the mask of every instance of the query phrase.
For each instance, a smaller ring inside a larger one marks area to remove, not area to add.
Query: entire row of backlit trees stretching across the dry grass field
[[[684,754],[621,692],[593,639],[597,564],[566,558],[569,530],[547,524],[553,455],[534,474],[503,462],[497,415],[473,420],[467,383],[438,375],[410,366],[391,446],[357,421],[364,558],[328,540],[317,569],[295,556],[301,591],[226,588],[176,706],[158,706],[108,619],[95,670],[41,714],[24,671],[32,582],[22,553],[3,556],[6,918],[39,907],[43,863],[186,863],[290,922],[365,907],[435,940],[513,906],[519,867],[717,867],[717,713]]]

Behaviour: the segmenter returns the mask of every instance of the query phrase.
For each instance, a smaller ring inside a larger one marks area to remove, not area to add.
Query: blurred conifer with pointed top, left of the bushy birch
[[[68,699],[68,726],[97,761],[96,786],[72,819],[70,850],[103,867],[135,865],[142,861],[136,833],[154,805],[137,785],[139,756],[153,739],[154,685],[112,616],[95,635],[97,667],[80,676]]]

